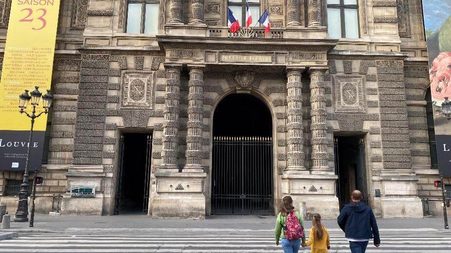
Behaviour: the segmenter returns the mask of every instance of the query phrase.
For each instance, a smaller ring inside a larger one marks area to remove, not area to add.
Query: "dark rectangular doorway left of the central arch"
[[[150,133],[121,135],[115,214],[147,215],[151,148]]]

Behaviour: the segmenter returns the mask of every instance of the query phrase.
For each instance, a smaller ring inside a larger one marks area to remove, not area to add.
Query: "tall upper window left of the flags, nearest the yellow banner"
[[[159,16],[158,0],[129,0],[127,5],[127,33],[156,35]]]

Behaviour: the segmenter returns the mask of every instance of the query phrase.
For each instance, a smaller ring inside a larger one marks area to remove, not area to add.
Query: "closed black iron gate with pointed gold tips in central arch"
[[[274,215],[271,137],[214,137],[212,214]]]

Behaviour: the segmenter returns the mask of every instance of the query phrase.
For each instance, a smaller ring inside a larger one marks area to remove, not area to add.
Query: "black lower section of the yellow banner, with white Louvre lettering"
[[[23,171],[30,148],[30,171],[39,170],[42,163],[45,131],[33,131],[33,140],[29,143],[30,131],[0,130],[0,170]]]

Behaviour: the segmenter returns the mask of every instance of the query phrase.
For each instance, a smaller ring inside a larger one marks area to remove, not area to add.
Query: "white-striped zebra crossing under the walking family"
[[[308,235],[308,233],[307,233]],[[332,232],[329,253],[349,253],[344,233]],[[451,233],[384,233],[382,246],[373,241],[367,253],[451,253]],[[273,233],[65,233],[26,234],[0,241],[1,253],[281,253]],[[310,253],[301,248],[299,253]]]

